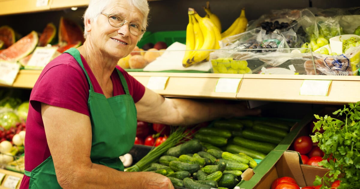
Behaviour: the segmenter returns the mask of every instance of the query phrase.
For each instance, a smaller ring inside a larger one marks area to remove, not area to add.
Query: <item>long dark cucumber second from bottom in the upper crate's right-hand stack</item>
[[[236,145],[239,146],[243,146],[252,150],[256,150],[258,152],[262,152],[265,154],[268,154],[271,152],[271,150],[273,150],[276,145],[275,144],[270,144],[270,143],[265,143],[265,142],[259,142],[259,141],[255,141],[255,140],[249,140],[249,139],[245,139],[239,136],[235,136],[233,138],[233,142]]]

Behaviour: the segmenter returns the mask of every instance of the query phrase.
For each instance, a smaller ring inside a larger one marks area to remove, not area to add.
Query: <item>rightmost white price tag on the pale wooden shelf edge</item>
[[[332,80],[304,80],[300,95],[327,96]]]

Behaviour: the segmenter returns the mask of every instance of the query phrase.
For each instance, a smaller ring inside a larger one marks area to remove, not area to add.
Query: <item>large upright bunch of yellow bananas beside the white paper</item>
[[[184,67],[208,60],[210,50],[219,49],[219,41],[221,40],[220,30],[210,18],[201,17],[193,8],[188,9],[188,15],[186,51],[183,58]]]

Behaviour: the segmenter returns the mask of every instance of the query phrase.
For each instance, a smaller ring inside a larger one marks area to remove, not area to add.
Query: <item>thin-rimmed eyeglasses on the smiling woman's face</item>
[[[108,17],[109,24],[112,27],[119,28],[119,27],[123,26],[125,24],[125,22],[129,22],[129,21],[126,21],[125,19],[123,19],[118,14],[106,14],[106,13],[101,13],[101,14]],[[143,25],[141,25],[141,24],[129,23],[129,31],[132,35],[139,36],[139,35],[145,33],[146,30],[143,27]]]

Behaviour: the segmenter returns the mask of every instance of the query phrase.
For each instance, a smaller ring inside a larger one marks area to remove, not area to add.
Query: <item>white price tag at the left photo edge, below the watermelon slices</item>
[[[20,65],[13,62],[0,61],[0,84],[13,85],[19,73]]]

